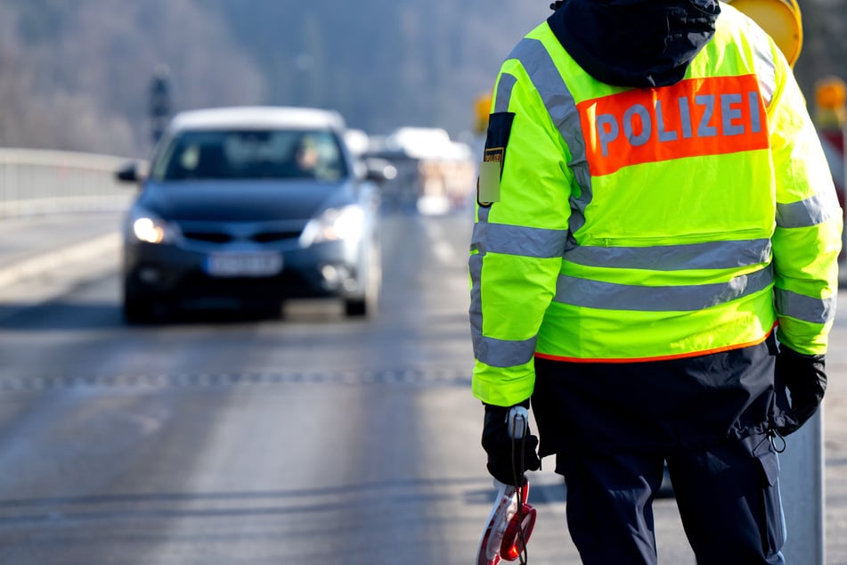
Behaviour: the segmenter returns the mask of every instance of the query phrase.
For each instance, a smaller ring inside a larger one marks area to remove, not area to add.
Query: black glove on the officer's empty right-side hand
[[[778,422],[780,436],[787,436],[800,427],[816,412],[827,391],[827,373],[822,355],[803,355],[794,349],[780,346],[777,356],[775,381],[785,386],[791,394],[791,407]]]

